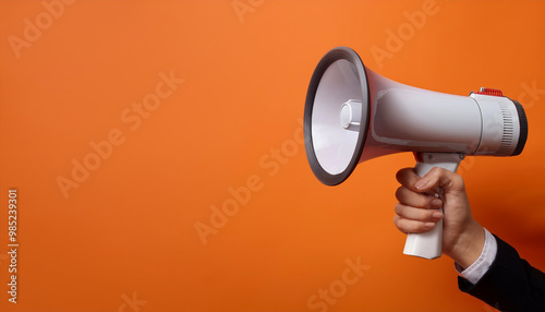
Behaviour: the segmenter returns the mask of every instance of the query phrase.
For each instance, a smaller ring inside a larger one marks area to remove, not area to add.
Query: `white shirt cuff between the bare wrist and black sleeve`
[[[488,271],[498,252],[498,243],[494,236],[487,229],[484,229],[484,247],[479,259],[465,269],[458,263],[455,263],[456,271],[473,285],[477,284],[481,277]]]

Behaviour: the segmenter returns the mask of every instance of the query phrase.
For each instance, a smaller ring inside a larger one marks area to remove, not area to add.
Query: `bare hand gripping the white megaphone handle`
[[[436,167],[422,178],[412,168],[404,168],[396,178],[401,183],[396,192],[399,203],[393,216],[398,229],[404,233],[425,232],[443,218],[443,253],[463,268],[475,262],[483,250],[485,233],[471,215],[462,177]],[[445,202],[432,195],[438,187],[444,191]],[[443,204],[445,215],[438,211]]]

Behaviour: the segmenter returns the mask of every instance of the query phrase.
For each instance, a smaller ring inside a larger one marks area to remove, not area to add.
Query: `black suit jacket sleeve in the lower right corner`
[[[545,311],[545,274],[532,267],[498,237],[496,259],[475,284],[458,277],[461,291],[500,311]]]

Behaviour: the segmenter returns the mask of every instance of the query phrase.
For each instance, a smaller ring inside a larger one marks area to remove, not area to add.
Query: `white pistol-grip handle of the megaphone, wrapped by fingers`
[[[414,172],[424,177],[432,168],[441,167],[456,172],[463,154],[455,153],[417,153]],[[443,190],[438,189],[437,194],[443,196]],[[440,208],[441,212],[443,207]],[[404,254],[420,256],[424,259],[436,259],[443,253],[443,219],[435,224],[433,230],[423,233],[409,233],[407,236]]]

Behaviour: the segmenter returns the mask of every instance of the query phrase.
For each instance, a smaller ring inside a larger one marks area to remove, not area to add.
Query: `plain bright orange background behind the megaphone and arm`
[[[252,10],[238,16],[233,3]],[[368,269],[327,311],[492,311],[458,290],[451,260],[402,254],[395,173],[412,155],[364,163],[329,188],[293,143],[314,67],[336,46],[409,85],[500,88],[525,108],[524,152],[468,157],[459,172],[475,218],[545,269],[545,1],[437,0],[377,62],[371,48],[386,49],[387,29],[423,3],[77,1],[16,58],[10,36],[24,38],[25,19],[46,9],[0,1],[0,310],[320,311],[308,298],[360,257]],[[183,84],[132,131],[122,111],[171,71]],[[72,159],[112,129],[125,141],[65,199],[58,177],[71,178]],[[210,206],[255,176],[262,189],[204,244],[195,224],[209,226]],[[16,304],[9,188],[19,192]],[[126,303],[133,296],[140,305]]]

